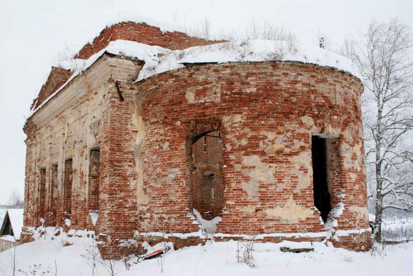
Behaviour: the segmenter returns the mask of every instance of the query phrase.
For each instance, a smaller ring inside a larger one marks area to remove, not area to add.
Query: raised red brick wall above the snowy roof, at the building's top
[[[192,46],[208,45],[222,41],[209,41],[189,36],[182,32],[162,32],[159,27],[145,23],[121,22],[105,28],[92,44],[86,44],[76,58],[87,59],[101,51],[110,41],[117,39],[136,41],[147,45],[161,46],[171,50],[183,50]]]

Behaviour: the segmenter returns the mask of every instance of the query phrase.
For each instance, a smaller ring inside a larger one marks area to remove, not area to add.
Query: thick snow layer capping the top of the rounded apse
[[[140,71],[137,82],[155,74],[182,68],[185,64],[262,61],[315,64],[338,69],[361,79],[357,66],[344,56],[312,46],[294,47],[284,41],[255,39],[245,43],[231,41],[191,47],[182,51],[169,51],[157,59],[145,60],[145,66]]]

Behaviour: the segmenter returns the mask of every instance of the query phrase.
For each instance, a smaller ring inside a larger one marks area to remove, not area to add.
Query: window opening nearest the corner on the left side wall
[[[100,148],[98,147],[90,151],[88,192],[89,211],[97,211],[99,209],[99,164]]]

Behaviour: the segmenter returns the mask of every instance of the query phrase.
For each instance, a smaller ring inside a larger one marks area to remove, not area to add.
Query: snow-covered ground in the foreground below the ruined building
[[[16,275],[27,275],[34,265],[41,265],[40,272],[46,275],[77,276],[92,275],[92,269],[87,262],[93,252],[97,252],[96,243],[92,238],[87,238],[86,232],[78,232],[83,237],[68,237],[60,234],[53,240],[52,227],[47,228],[44,236],[35,242],[26,243],[16,247]],[[90,234],[90,233],[89,233]],[[66,245],[66,246],[65,246]],[[170,244],[169,244],[170,245]],[[413,242],[397,245],[387,245],[381,254],[372,255],[371,252],[352,252],[341,248],[334,248],[325,243],[256,243],[252,256],[255,267],[237,262],[237,250],[242,255],[242,243],[207,242],[204,246],[191,246],[174,251],[169,250],[163,257],[144,260],[137,264],[137,257],[129,259],[132,264],[126,271],[122,260],[114,264],[115,275],[162,275],[162,276],[251,276],[251,275],[408,275],[413,271]],[[281,252],[280,247],[313,247],[312,252],[290,253]],[[148,248],[148,251],[155,248]],[[82,257],[81,255],[84,255]],[[85,258],[86,257],[86,258]],[[0,253],[0,275],[13,275],[12,269],[13,249]],[[102,261],[101,259],[98,259]],[[97,262],[94,275],[110,275],[104,265]],[[109,262],[105,262],[109,265]]]

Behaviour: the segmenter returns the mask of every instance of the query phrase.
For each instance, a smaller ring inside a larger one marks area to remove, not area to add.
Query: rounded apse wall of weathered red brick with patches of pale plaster
[[[224,151],[218,233],[368,227],[361,92],[359,79],[337,69],[274,61],[194,64],[139,82],[149,198],[141,231],[198,231],[187,216],[194,202],[192,140],[211,131],[222,133]],[[312,158],[315,152],[324,158]],[[317,189],[330,200],[323,219],[314,207],[318,167],[324,184]]]

